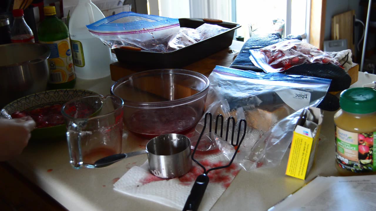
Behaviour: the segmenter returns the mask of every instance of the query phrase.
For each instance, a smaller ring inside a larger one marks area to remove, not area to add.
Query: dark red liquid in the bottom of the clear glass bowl
[[[167,133],[191,137],[201,116],[188,106],[144,109],[126,119],[126,126],[136,136],[148,139]]]

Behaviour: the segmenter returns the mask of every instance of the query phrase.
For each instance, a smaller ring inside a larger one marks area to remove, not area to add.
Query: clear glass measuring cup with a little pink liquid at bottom
[[[123,100],[113,95],[87,95],[62,106],[67,124],[71,165],[94,168],[100,158],[121,152]]]

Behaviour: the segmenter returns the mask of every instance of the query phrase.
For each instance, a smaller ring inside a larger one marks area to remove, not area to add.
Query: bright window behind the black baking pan
[[[232,21],[242,27],[236,36],[250,36],[250,24],[267,26],[272,20],[285,21],[285,35],[293,33],[308,38],[311,0],[148,0],[150,14],[171,18],[215,18]],[[261,28],[260,28],[261,29]],[[262,29],[261,29],[262,30]],[[308,40],[308,39],[307,39]]]

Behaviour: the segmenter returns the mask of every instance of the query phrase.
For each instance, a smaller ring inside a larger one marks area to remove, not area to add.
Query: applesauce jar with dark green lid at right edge
[[[334,115],[335,166],[344,176],[376,173],[376,90],[357,87],[340,95]]]

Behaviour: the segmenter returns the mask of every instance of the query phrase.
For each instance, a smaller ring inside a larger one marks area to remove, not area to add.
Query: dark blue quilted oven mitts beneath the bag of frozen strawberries
[[[263,48],[265,46],[273,45],[288,39],[302,40],[302,37],[300,35],[288,35],[286,38],[282,39],[280,38],[280,35],[278,33],[252,36],[244,43],[238,56],[230,65],[230,68],[264,72],[261,68],[253,65],[253,63],[249,59],[249,57],[251,56],[249,50],[255,48]],[[350,87],[351,83],[350,75],[347,74],[344,69],[331,63],[307,63],[299,66],[294,66],[280,73],[287,75],[304,75],[331,79],[332,81],[329,86],[329,92],[345,90]],[[340,102],[336,96],[327,93],[323,101],[321,101],[320,105],[318,105],[317,107],[327,111],[335,111],[340,108]]]

